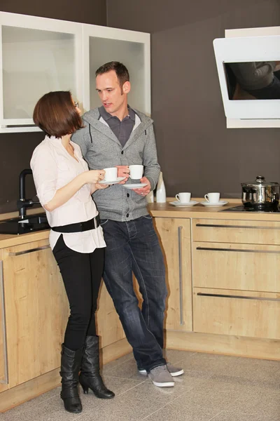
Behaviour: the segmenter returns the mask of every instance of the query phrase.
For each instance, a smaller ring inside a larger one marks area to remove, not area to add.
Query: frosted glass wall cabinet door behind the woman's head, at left
[[[80,24],[13,13],[0,13],[0,23],[3,131],[36,130],[34,106],[49,91],[71,90],[83,102]]]

